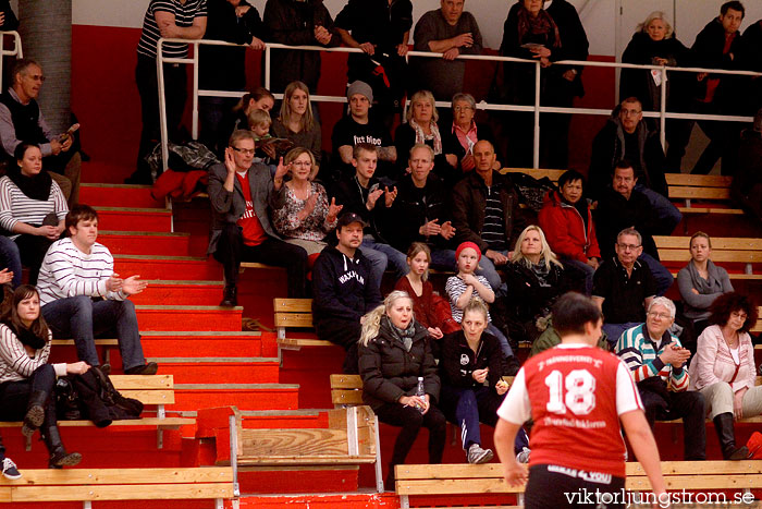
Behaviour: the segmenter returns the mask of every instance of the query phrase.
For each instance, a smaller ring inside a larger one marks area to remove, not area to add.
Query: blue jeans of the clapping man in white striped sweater
[[[115,332],[122,367],[146,364],[137,329],[135,304],[131,301],[94,301],[86,295],[58,299],[42,306],[42,316],[58,338],[74,338],[77,357],[99,366],[95,337]]]

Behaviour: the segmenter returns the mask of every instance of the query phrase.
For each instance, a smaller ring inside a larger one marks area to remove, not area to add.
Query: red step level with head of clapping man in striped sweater
[[[112,254],[186,256],[188,233],[100,231],[98,242]]]

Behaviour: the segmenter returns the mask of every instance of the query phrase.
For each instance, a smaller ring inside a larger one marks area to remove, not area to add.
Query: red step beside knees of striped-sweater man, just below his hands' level
[[[239,331],[244,308],[189,305],[137,305],[140,330]]]

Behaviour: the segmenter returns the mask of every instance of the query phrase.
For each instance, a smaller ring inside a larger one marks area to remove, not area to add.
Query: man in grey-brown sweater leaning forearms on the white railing
[[[416,51],[444,53],[442,59],[418,59],[419,88],[431,90],[437,100],[450,100],[463,90],[466,63],[458,54],[481,52],[481,32],[476,17],[464,12],[464,0],[442,0],[441,8],[423,14],[413,34]]]

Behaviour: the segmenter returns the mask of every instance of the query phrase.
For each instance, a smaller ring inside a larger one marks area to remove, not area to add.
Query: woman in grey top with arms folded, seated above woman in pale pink
[[[710,259],[712,240],[702,231],[690,238],[690,262],[677,272],[677,287],[683,298],[683,314],[693,324],[696,336],[709,325],[710,306],[723,293],[732,292],[727,270]]]

